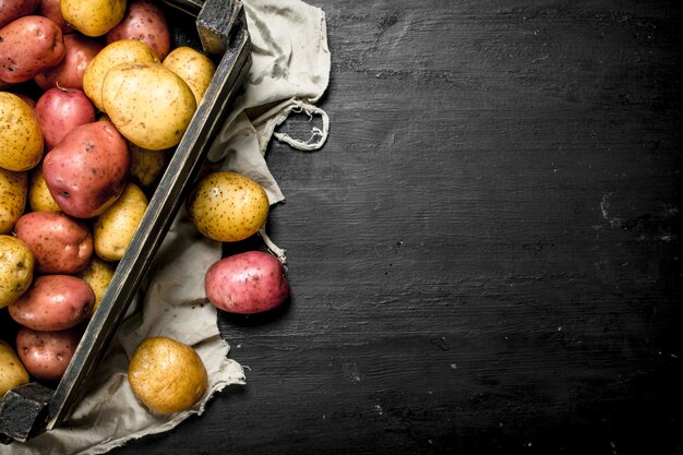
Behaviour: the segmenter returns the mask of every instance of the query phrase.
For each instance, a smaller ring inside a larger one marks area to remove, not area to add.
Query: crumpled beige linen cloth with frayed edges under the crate
[[[307,151],[320,148],[327,136],[327,115],[314,106],[329,76],[325,14],[299,0],[244,0],[243,4],[252,68],[205,167],[251,176],[275,204],[284,195],[265,161],[271,139]],[[322,127],[312,127],[310,136],[300,139],[275,131],[292,111],[317,117],[315,124]],[[284,250],[262,235],[284,260]],[[190,415],[202,414],[207,400],[227,385],[243,384],[244,370],[228,358],[230,347],[219,336],[217,310],[207,303],[203,288],[204,272],[220,253],[220,243],[201,237],[181,211],[158,251],[158,267],[129,309],[88,381],[84,399],[60,428],[24,444],[0,445],[0,455],[101,454],[132,439],[170,430]],[[140,342],[153,335],[192,345],[202,357],[209,390],[194,408],[155,416],[133,396],[127,380],[129,359]]]

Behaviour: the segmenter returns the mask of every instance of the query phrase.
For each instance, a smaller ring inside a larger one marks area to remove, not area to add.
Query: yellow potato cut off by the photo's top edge
[[[61,0],[62,17],[85,36],[103,36],[125,14],[125,0]]]

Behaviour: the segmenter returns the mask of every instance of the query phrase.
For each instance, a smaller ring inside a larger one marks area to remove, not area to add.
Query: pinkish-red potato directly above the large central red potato
[[[49,88],[38,98],[35,112],[48,151],[71,130],[96,120],[95,106],[79,88]]]

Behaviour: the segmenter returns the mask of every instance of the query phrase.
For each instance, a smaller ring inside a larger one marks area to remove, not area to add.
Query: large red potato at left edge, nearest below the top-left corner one
[[[51,19],[25,15],[0,28],[0,81],[29,81],[63,58],[62,31]]]

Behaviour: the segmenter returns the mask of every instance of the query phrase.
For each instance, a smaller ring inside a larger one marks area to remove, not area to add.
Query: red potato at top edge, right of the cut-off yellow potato
[[[171,47],[170,28],[164,11],[149,0],[130,1],[124,17],[105,37],[107,44],[119,39],[143,41],[154,49],[159,60],[164,60]]]

